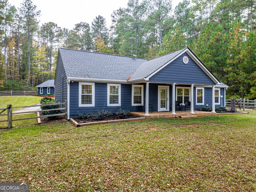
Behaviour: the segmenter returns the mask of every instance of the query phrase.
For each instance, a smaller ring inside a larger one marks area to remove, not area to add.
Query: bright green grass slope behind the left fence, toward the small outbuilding
[[[0,96],[0,108],[12,104],[13,107],[30,106],[40,103],[42,97],[38,96]]]

